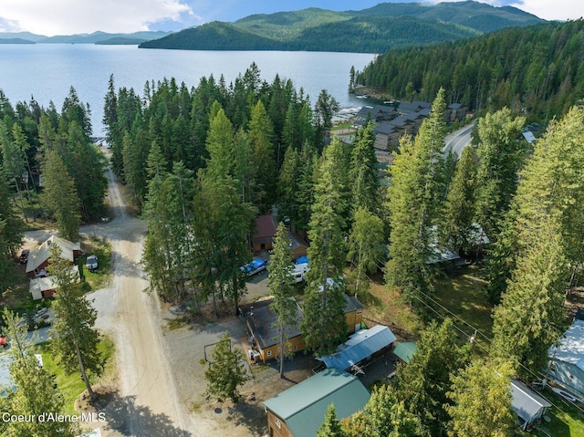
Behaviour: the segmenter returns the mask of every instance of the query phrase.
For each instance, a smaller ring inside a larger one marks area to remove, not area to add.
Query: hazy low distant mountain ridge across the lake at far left
[[[92,34],[44,36],[31,32],[0,32],[0,44],[134,44],[155,38],[168,36],[172,32],[141,31],[131,34],[109,34],[93,32]]]

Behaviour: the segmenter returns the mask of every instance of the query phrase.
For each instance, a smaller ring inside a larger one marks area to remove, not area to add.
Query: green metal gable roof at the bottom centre
[[[357,377],[338,369],[325,369],[264,405],[286,421],[294,436],[310,437],[317,434],[331,403],[340,420],[362,410],[369,398],[369,391]]]

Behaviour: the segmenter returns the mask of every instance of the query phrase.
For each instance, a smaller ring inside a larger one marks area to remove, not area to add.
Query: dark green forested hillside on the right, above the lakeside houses
[[[432,47],[393,50],[356,75],[356,84],[387,98],[447,101],[471,110],[509,106],[549,120],[584,92],[584,21],[503,29]]]

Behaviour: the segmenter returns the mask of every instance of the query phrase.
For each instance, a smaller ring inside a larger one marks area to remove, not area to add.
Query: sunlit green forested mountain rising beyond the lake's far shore
[[[322,50],[382,53],[542,22],[513,7],[476,2],[435,6],[385,3],[362,11],[308,8],[209,23],[142,43],[142,48],[192,50]]]

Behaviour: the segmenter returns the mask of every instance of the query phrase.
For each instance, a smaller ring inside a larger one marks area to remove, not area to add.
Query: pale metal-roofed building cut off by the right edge
[[[549,377],[567,390],[584,396],[584,320],[574,319],[548,351],[551,359]]]

